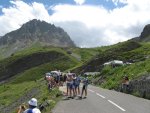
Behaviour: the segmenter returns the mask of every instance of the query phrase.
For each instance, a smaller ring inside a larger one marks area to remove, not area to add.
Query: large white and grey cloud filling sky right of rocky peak
[[[51,20],[58,25],[63,23],[61,26],[79,46],[114,44],[140,35],[143,27],[150,22],[150,4],[148,0],[145,1],[126,1],[126,6],[111,11],[102,6],[57,5],[53,8]],[[86,27],[73,23],[67,25],[73,21],[83,23]]]

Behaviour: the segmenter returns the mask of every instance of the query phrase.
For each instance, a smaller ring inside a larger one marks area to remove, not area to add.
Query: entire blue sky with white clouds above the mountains
[[[62,27],[80,47],[115,44],[150,24],[149,0],[0,0],[0,36],[38,19]]]

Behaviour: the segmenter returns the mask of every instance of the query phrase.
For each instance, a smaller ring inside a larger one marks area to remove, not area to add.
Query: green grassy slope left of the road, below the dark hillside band
[[[53,64],[53,65],[52,65]],[[65,65],[64,65],[65,64]],[[57,95],[60,95],[58,89],[54,89],[51,92],[47,89],[47,84],[44,80],[45,73],[54,69],[62,69],[62,71],[74,66],[74,63],[71,63],[70,59],[59,59],[48,64],[43,64],[37,67],[33,67],[29,70],[26,70],[22,73],[15,75],[7,83],[0,85],[0,103],[1,109],[8,106],[7,109],[11,109],[12,103],[15,101],[23,100],[27,94],[30,94],[28,98],[25,98],[24,101],[19,101],[16,103],[16,107],[20,104],[26,102],[31,97],[36,97],[39,100],[39,103],[44,101],[50,101],[50,106],[48,106],[46,111],[50,111],[60,99],[57,98]],[[32,95],[32,90],[37,93]],[[10,107],[9,107],[10,106]],[[17,109],[17,108],[16,108]],[[44,113],[46,113],[44,111]]]

